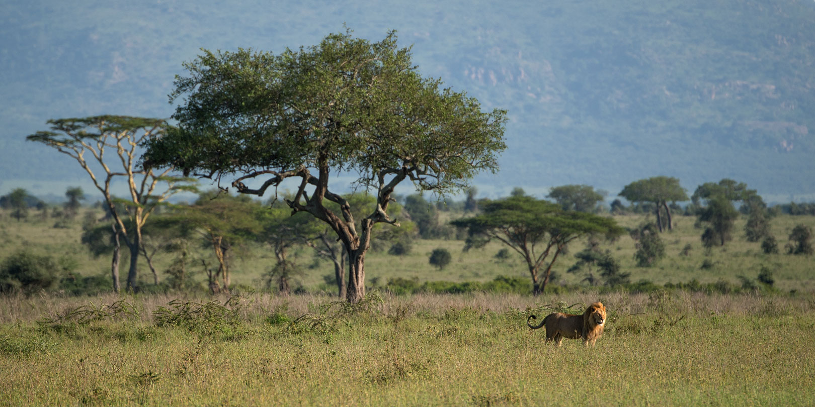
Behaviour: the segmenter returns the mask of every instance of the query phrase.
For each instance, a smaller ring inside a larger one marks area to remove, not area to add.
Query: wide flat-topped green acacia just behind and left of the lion
[[[457,219],[451,224],[468,229],[465,251],[496,239],[523,256],[535,295],[544,291],[555,260],[569,243],[589,234],[614,238],[623,233],[610,218],[563,211],[557,204],[530,196],[491,201],[482,207],[482,214],[477,217]]]

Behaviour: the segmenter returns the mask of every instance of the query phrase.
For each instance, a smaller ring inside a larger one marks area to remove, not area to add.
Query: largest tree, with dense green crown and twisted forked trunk
[[[236,190],[254,195],[293,178],[289,208],[324,221],[346,247],[350,302],[365,294],[373,225],[399,225],[386,212],[399,183],[457,191],[495,171],[505,148],[506,112],[482,112],[478,100],[421,77],[393,32],[381,42],[331,34],[280,55],[204,51],[185,68],[170,95],[183,96],[178,130],[148,143],[146,162],[218,182],[234,176]],[[338,173],[357,174],[377,198],[361,221],[332,190]]]

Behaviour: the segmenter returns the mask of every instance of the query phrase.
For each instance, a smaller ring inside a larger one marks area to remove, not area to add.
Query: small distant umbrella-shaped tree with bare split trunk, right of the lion
[[[650,177],[632,182],[620,191],[619,196],[631,202],[653,203],[654,212],[657,217],[657,228],[660,232],[664,229],[662,221],[663,211],[665,217],[667,217],[667,229],[673,229],[671,209],[668,208],[667,203],[688,200],[687,192],[685,188],[679,185],[679,180],[674,177],[664,176]]]

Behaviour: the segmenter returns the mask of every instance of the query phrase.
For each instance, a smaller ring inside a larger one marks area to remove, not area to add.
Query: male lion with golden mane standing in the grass
[[[603,326],[606,324],[606,307],[603,303],[596,302],[586,309],[583,315],[572,315],[569,313],[550,313],[539,326],[533,326],[531,321],[537,319],[535,315],[526,318],[526,325],[533,330],[546,326],[546,342],[555,341],[557,346],[561,345],[563,338],[579,339],[583,338],[583,344],[592,346],[603,334]]]

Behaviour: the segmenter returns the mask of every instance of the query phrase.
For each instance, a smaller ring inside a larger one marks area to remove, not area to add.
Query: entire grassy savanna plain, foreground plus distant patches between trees
[[[616,218],[633,226],[644,217]],[[773,234],[784,243],[801,222],[815,223],[775,217]],[[70,256],[78,273],[104,273],[109,258],[84,254],[79,225],[51,223],[6,217],[0,241],[7,252],[30,247]],[[263,290],[270,260],[261,253],[235,260],[244,288],[233,295],[5,295],[0,405],[812,405],[813,258],[765,254],[738,233],[706,250],[699,234],[693,217],[676,217],[663,234],[667,256],[652,267],[637,267],[626,236],[601,243],[633,282],[650,282],[647,291],[578,288],[584,275],[566,272],[571,255],[538,296],[388,290],[395,277],[528,278],[522,262],[496,259],[501,246],[461,252],[450,239],[417,240],[406,256],[372,252],[359,304],[318,288],[327,263],[302,273],[300,294]],[[428,264],[436,247],[454,253],[445,269]],[[305,249],[294,256],[311,262]],[[756,282],[762,269],[773,287]],[[676,288],[693,280],[708,289]],[[597,300],[608,319],[593,348],[544,344],[544,330],[526,326],[529,315],[580,313]]]

